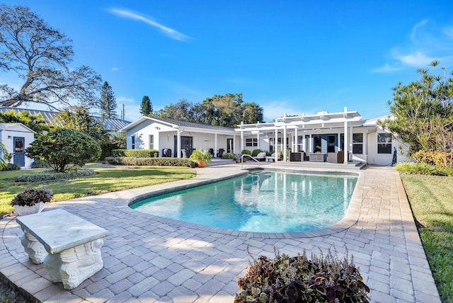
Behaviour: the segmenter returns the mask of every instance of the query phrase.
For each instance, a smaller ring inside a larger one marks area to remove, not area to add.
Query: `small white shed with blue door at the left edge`
[[[0,142],[13,154],[11,163],[30,167],[33,159],[25,156],[25,149],[35,140],[35,132],[22,123],[0,123]]]

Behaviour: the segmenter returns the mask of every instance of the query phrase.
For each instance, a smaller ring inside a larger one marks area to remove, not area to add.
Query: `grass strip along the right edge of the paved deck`
[[[453,178],[401,174],[442,302],[453,302]]]

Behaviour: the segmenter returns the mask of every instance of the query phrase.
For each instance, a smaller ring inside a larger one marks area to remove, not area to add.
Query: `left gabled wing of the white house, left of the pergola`
[[[142,116],[120,132],[126,132],[127,149],[156,149],[159,156],[188,157],[197,148],[214,157],[241,151],[240,134],[231,127]]]

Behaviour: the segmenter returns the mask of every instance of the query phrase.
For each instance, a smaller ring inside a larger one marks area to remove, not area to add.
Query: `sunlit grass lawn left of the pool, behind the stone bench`
[[[2,171],[0,174],[0,215],[13,210],[10,202],[15,195],[28,188],[52,189],[52,201],[98,195],[117,190],[139,188],[171,181],[193,178],[195,169],[173,166],[139,166],[127,168],[94,168],[95,176],[76,178],[68,181],[47,181],[45,183],[15,182],[17,176],[25,173],[42,173],[45,169],[33,171]],[[47,170],[48,171],[48,170]]]

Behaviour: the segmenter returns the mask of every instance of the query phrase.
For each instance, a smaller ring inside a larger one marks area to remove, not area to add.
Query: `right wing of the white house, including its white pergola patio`
[[[364,120],[356,110],[283,115],[274,122],[241,124],[242,149],[273,153],[274,161],[316,161],[386,165],[404,144],[382,130],[379,118]],[[401,156],[403,154],[401,153]],[[400,157],[400,159],[405,159]]]

